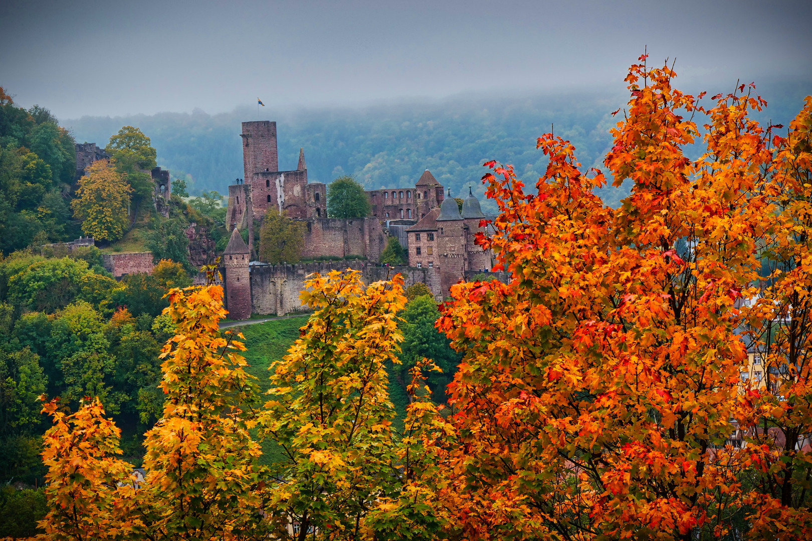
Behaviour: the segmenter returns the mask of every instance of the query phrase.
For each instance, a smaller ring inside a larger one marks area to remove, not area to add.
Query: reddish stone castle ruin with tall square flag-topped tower
[[[243,122],[244,179],[228,187],[227,226],[231,230],[222,255],[221,273],[230,318],[302,310],[299,293],[314,272],[353,268],[365,281],[404,276],[406,286],[423,282],[438,300],[466,273],[489,271],[491,255],[474,243],[485,215],[470,191],[462,213],[443,186],[425,170],[413,187],[367,191],[372,216],[327,217],[326,185],[308,182],[304,151],[296,170],[279,170],[276,122]],[[304,221],[303,260],[338,258],[309,264],[263,264],[252,261],[254,228],[269,208]],[[248,245],[240,231],[248,230]],[[408,265],[378,265],[387,237],[395,236],[408,253]],[[348,258],[348,260],[344,260]]]

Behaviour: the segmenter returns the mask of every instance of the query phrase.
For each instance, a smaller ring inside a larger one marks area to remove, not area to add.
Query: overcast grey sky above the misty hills
[[[812,78],[812,2],[0,2],[0,86],[58,118]],[[715,90],[715,88],[709,88]],[[812,92],[812,88],[810,88]]]

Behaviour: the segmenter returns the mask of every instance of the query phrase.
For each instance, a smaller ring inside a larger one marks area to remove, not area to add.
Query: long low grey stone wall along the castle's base
[[[363,261],[331,261],[309,264],[251,264],[251,309],[254,314],[284,316],[292,311],[305,311],[299,294],[304,290],[304,281],[312,273],[343,271],[347,268],[361,271],[365,284],[387,280],[400,273],[404,277],[404,287],[422,282],[429,287],[434,298],[443,299],[438,273],[430,268],[379,267]],[[227,280],[230,286],[231,281]]]

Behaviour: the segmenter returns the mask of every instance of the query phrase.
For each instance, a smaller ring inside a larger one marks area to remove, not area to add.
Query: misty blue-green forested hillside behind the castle
[[[711,88],[712,92],[730,89]],[[686,89],[693,91],[693,89]],[[792,81],[758,87],[770,102],[755,115],[785,125],[812,93],[812,82]],[[202,190],[227,192],[243,176],[240,122],[275,120],[278,126],[279,167],[296,167],[304,148],[311,182],[330,182],[353,174],[369,189],[412,185],[429,169],[452,195],[473,186],[482,196],[482,162],[497,160],[516,167],[525,183],[533,183],[546,167],[536,149],[538,135],[550,131],[571,140],[585,167],[602,167],[610,147],[609,130],[620,118],[611,111],[627,101],[623,94],[599,92],[546,93],[498,97],[464,95],[444,100],[398,101],[363,107],[322,107],[279,110],[246,107],[209,115],[158,113],[125,117],[65,120],[77,142],[104,146],[124,125],[140,127],[158,150],[158,165],[175,174],[189,174],[193,194]],[[707,105],[710,101],[706,98]],[[628,186],[603,191],[616,205]],[[486,202],[486,208],[495,205]]]

